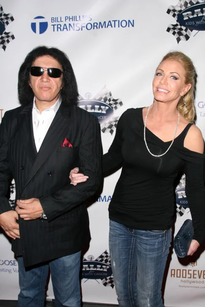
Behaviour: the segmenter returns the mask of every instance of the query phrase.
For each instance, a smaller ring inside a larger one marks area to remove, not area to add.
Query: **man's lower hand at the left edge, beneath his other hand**
[[[13,210],[0,214],[0,226],[2,226],[6,234],[14,240],[20,238],[19,226],[16,220],[18,220],[18,214]]]

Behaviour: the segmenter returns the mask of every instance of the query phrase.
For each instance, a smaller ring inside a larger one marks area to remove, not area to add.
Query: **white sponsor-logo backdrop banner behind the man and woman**
[[[197,125],[205,134],[205,3],[197,0],[0,0],[0,116],[17,106],[17,73],[38,45],[69,56],[77,78],[79,106],[95,114],[104,152],[119,116],[152,104],[152,79],[162,56],[186,53],[197,69]],[[84,256],[83,300],[117,303],[108,247],[108,205],[119,171],[105,179],[89,207],[92,240]],[[11,188],[11,204],[15,185]],[[149,191],[148,191],[149,192]],[[190,218],[185,179],[176,189],[175,232]],[[1,205],[1,204],[0,204]],[[204,307],[205,254],[179,261],[171,254],[166,306]],[[8,239],[0,234],[0,299],[17,299],[18,266]],[[53,298],[51,282],[48,299]]]

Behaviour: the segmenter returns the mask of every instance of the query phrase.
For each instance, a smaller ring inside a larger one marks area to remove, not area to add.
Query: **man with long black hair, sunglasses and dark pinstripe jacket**
[[[67,56],[32,50],[18,74],[21,104],[0,128],[0,225],[17,255],[19,307],[44,306],[50,267],[55,305],[79,307],[80,251],[90,239],[85,200],[98,188],[101,140],[97,118],[77,107],[77,84]],[[70,185],[79,166],[83,185]],[[12,210],[8,183],[16,184]]]

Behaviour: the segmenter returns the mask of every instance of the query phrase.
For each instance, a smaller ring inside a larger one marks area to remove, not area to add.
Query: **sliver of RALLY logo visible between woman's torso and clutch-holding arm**
[[[177,215],[182,216],[186,209],[189,208],[187,196],[185,193],[185,175],[183,175],[176,187],[176,212]]]

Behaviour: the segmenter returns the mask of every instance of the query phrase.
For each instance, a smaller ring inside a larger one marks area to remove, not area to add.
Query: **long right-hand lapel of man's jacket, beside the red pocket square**
[[[71,118],[70,107],[60,105],[49,129],[45,139],[40,146],[36,159],[29,172],[24,188],[28,185],[31,179],[35,176],[39,168],[44,164],[51,152],[63,142],[64,136],[70,127]]]

